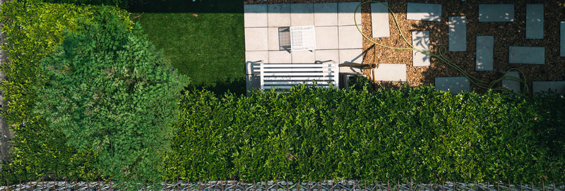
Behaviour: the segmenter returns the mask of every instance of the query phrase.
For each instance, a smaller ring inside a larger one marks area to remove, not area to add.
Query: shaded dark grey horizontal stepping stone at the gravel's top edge
[[[514,21],[514,4],[479,4],[479,22]]]

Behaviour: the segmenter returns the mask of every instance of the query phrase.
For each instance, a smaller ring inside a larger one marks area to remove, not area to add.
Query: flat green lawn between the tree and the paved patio
[[[132,13],[131,17],[141,23],[174,68],[189,75],[191,85],[244,93],[243,5],[225,4],[217,12],[206,9],[210,4],[184,5],[184,11],[178,7],[182,5],[169,6],[177,9],[154,13],[167,8],[148,7],[145,10],[153,13]]]

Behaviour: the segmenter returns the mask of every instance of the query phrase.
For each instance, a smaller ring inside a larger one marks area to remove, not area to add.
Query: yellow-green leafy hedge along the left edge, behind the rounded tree
[[[110,8],[129,28],[129,13]],[[78,32],[78,20],[98,20],[100,6],[45,4],[37,1],[13,1],[1,6],[0,20],[8,53],[4,63],[6,80],[0,88],[6,94],[7,111],[3,116],[16,137],[12,140],[11,162],[2,166],[2,180],[29,180],[50,174],[69,179],[90,179],[98,175],[93,152],[77,152],[66,145],[59,128],[50,128],[40,116],[32,114],[37,87],[46,78],[40,61],[59,46],[68,33]]]

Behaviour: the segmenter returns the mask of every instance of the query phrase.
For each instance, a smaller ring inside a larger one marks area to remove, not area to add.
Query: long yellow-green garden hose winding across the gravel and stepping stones
[[[408,48],[407,48],[407,47],[389,47],[389,46],[386,46],[386,45],[384,45],[384,44],[379,44],[379,43],[377,43],[377,42],[374,42],[373,39],[367,37],[367,35],[365,35],[365,34],[362,32],[362,30],[359,28],[359,25],[357,25],[357,17],[355,17],[355,14],[357,14],[357,11],[359,11],[359,8],[361,8],[362,5],[364,5],[364,4],[369,4],[369,3],[379,3],[379,4],[382,4],[383,6],[386,6],[386,8],[388,8],[388,10],[391,12],[391,14],[392,14],[392,16],[393,16],[393,20],[394,20],[394,23],[396,24],[396,28],[398,29],[398,32],[400,33],[400,37],[402,37],[402,38],[404,39],[404,42],[406,42],[406,44],[408,44],[408,46],[409,46]],[[357,8],[355,8],[355,13],[354,13],[353,19],[355,20],[355,27],[357,27],[357,30],[359,31],[359,33],[361,33],[361,35],[363,35],[363,37],[364,37],[365,39],[369,40],[369,42],[371,42],[371,43],[373,43],[373,44],[376,44],[376,45],[378,45],[379,47],[385,47],[385,48],[388,48],[388,49],[400,49],[400,50],[419,51],[419,52],[421,52],[422,54],[426,54],[426,55],[428,55],[428,56],[432,56],[432,57],[434,57],[434,58],[437,58],[437,59],[439,59],[440,61],[446,63],[448,66],[451,66],[451,68],[456,69],[459,73],[462,73],[463,75],[465,75],[465,77],[468,78],[469,81],[470,81],[473,85],[475,85],[475,86],[477,86],[477,87],[480,87],[480,88],[482,88],[482,89],[484,89],[484,90],[500,90],[500,91],[509,90],[509,89],[506,89],[506,88],[503,88],[503,87],[496,87],[496,88],[493,88],[493,86],[496,85],[496,83],[500,82],[501,80],[513,80],[513,81],[516,81],[516,82],[520,82],[521,84],[524,85],[524,90],[523,90],[523,92],[525,92],[526,94],[528,94],[528,92],[529,92],[528,84],[526,83],[526,80],[525,80],[525,75],[524,75],[524,73],[523,73],[521,70],[518,70],[518,68],[511,68],[511,69],[509,69],[507,72],[516,71],[516,72],[518,72],[518,73],[521,74],[521,76],[523,77],[523,79],[522,79],[522,78],[514,78],[514,77],[511,77],[511,76],[504,75],[504,76],[502,76],[502,77],[499,78],[499,79],[493,80],[492,82],[486,82],[486,81],[484,81],[484,80],[480,80],[480,79],[478,79],[478,78],[475,78],[474,76],[470,75],[469,73],[466,73],[465,70],[463,70],[463,68],[460,68],[459,66],[456,65],[456,63],[453,63],[453,62],[450,61],[448,58],[446,58],[446,57],[444,56],[444,55],[446,54],[446,47],[439,47],[439,52],[438,52],[438,54],[433,54],[431,51],[425,51],[425,50],[421,50],[421,49],[416,49],[412,44],[410,44],[410,42],[408,42],[408,39],[406,39],[406,37],[403,35],[403,32],[402,32],[402,30],[400,29],[400,25],[398,24],[398,20],[396,19],[396,16],[395,16],[395,14],[394,14],[394,11],[393,11],[388,5],[383,4],[383,2],[381,2],[381,1],[364,1],[364,2],[362,2],[361,4],[359,4],[359,6],[357,6]]]

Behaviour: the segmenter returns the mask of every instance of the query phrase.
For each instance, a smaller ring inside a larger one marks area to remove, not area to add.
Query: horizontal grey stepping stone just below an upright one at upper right
[[[509,63],[545,63],[545,47],[509,47]]]

